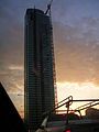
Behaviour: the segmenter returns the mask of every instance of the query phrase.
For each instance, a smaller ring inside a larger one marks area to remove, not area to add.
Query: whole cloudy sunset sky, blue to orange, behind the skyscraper
[[[50,0],[0,0],[0,81],[23,113],[24,14]],[[53,0],[58,100],[99,98],[99,0]],[[21,113],[21,114],[22,114]]]

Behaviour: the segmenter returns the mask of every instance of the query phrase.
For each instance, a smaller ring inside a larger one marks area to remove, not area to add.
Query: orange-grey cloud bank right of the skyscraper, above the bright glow
[[[97,23],[97,20],[90,24],[89,19],[82,20],[88,25],[85,32],[80,24],[69,26],[55,23],[54,24],[54,42],[56,56],[56,75],[57,81],[94,81],[99,84],[99,41],[96,37],[96,32],[99,33],[91,24]],[[95,24],[96,25],[96,24]],[[91,34],[90,34],[91,30]],[[98,36],[98,34],[97,34]]]

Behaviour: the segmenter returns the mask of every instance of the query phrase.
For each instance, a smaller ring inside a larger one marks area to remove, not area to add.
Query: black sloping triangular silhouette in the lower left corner
[[[14,105],[0,84],[0,132],[28,132]]]

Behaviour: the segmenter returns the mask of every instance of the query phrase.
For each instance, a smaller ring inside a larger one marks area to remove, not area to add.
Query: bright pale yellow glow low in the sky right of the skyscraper
[[[99,99],[99,87],[92,82],[57,82],[57,97],[58,102],[68,96],[73,96],[73,99]],[[72,109],[75,109],[84,103],[88,102],[73,102]],[[96,108],[99,108],[97,106]],[[65,106],[59,108],[59,110],[66,110]],[[82,114],[85,112],[82,111]]]

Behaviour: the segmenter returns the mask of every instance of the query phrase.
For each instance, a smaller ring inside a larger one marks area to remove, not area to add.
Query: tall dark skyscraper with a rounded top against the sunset
[[[51,18],[28,9],[24,36],[24,118],[30,130],[55,107],[54,48]]]

